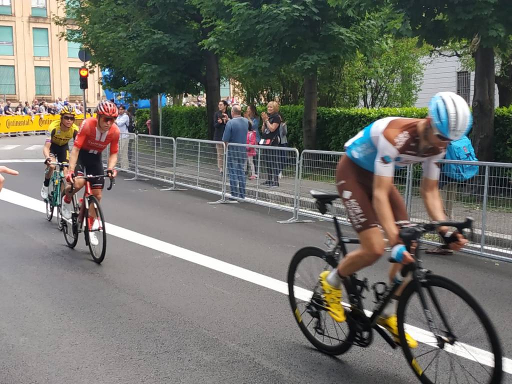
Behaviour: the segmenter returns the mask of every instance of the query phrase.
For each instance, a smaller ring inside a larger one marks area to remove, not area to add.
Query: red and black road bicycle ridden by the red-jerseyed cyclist
[[[106,174],[76,176],[75,179],[86,179],[83,198],[78,200],[77,196],[73,195],[71,218],[62,217],[62,232],[68,246],[74,248],[78,242],[78,233],[84,232],[86,245],[89,246],[93,260],[98,264],[103,261],[106,252],[105,218],[98,199],[92,194],[91,181],[106,177],[109,176]],[[107,190],[111,190],[113,185],[115,185],[115,181],[110,179]],[[63,198],[64,194],[62,194]]]

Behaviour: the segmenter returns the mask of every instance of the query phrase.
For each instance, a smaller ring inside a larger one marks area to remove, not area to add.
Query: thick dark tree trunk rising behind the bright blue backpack
[[[494,71],[494,48],[478,47],[475,52],[473,146],[480,161],[494,160]]]

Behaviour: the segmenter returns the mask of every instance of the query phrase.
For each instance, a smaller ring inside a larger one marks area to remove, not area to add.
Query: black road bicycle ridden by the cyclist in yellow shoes
[[[337,194],[311,191],[316,206],[324,215]],[[368,347],[376,331],[396,348],[388,332],[376,324],[378,316],[391,300],[400,283],[383,282],[369,287],[368,279],[357,274],[345,279],[342,303],[347,321],[338,323],[326,310],[318,275],[336,268],[347,254],[346,244],[359,239],[343,236],[333,215],[336,236],[326,235],[327,250],[306,247],[297,251],[288,269],[291,309],[301,331],[318,350],[329,355],[347,352],[353,345]],[[473,219],[463,222],[429,222],[410,224],[400,229],[400,238],[415,262],[404,265],[401,276],[410,282],[400,295],[397,308],[400,346],[408,364],[424,384],[475,383],[498,384],[502,380],[502,350],[498,335],[487,314],[475,298],[457,283],[433,274],[423,267],[420,238],[439,226],[472,229]],[[390,262],[394,262],[390,258]],[[406,284],[406,283],[404,283]],[[364,293],[374,293],[373,313],[364,308]],[[406,342],[406,331],[418,341],[417,348]]]

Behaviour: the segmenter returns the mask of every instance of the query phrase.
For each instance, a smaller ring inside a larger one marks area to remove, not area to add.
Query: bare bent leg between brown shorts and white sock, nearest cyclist
[[[359,234],[360,248],[349,252],[338,265],[340,276],[350,276],[375,263],[383,254],[386,242],[379,228],[368,228]]]

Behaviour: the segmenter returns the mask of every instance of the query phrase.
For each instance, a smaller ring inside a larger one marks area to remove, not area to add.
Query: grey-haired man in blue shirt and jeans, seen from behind
[[[239,104],[231,106],[231,119],[226,124],[222,141],[234,144],[246,144],[249,120],[242,117]],[[247,149],[242,145],[231,145],[227,151],[227,167],[231,196],[245,199],[245,166],[247,164]]]

